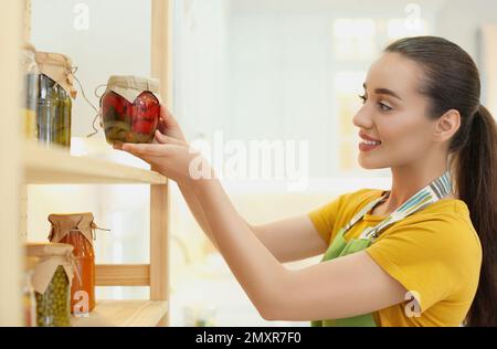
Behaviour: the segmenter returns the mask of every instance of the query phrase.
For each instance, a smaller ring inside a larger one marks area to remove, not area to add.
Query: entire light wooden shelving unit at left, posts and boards
[[[171,1],[150,2],[150,38],[142,39],[151,43],[151,62],[144,61],[140,64],[151,63],[150,76],[160,80],[160,95],[165,101],[171,102]],[[4,114],[0,117],[0,193],[3,195],[0,203],[0,326],[24,325],[19,281],[24,275],[21,242],[27,239],[30,213],[25,184],[149,184],[149,265],[101,265],[97,267],[97,281],[108,286],[147,285],[150,287],[150,300],[99,302],[88,317],[74,317],[72,322],[76,327],[168,326],[170,193],[167,178],[154,170],[102,158],[71,156],[65,149],[27,142],[20,133],[12,131],[21,130],[19,92],[23,76],[19,57],[23,42],[31,41],[31,0],[7,0],[6,3],[9,10],[0,11],[0,31],[9,33],[0,35],[0,76],[9,82],[0,87],[0,104]],[[60,13],[53,14],[56,19]],[[39,34],[43,36],[43,33]],[[81,64],[84,65],[85,62]],[[104,78],[106,77],[99,76],[99,80]],[[168,106],[171,107],[171,103]],[[23,239],[20,239],[20,234]]]

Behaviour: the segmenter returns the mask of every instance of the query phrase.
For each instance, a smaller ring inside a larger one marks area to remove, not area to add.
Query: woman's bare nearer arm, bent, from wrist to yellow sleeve
[[[218,180],[192,186],[221,254],[264,318],[343,318],[404,300],[404,287],[366,252],[297,272],[286,269],[244,224]]]

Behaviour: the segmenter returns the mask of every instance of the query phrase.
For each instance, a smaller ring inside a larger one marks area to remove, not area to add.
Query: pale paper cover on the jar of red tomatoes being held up
[[[150,92],[160,103],[160,82],[158,78],[139,77],[131,75],[113,75],[108,78],[107,91],[117,93],[129,103],[144,92]]]

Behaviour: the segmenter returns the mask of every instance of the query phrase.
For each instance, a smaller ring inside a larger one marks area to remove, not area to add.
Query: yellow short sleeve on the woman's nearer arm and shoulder
[[[366,252],[417,300],[421,313],[478,278],[480,250],[465,221],[434,214],[399,224]]]

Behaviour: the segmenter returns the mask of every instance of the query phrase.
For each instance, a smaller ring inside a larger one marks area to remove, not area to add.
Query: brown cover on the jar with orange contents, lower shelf
[[[68,214],[51,214],[49,222],[52,224],[49,240],[60,242],[71,232],[80,232],[86,240],[93,244],[93,231],[97,229],[94,223],[93,213],[68,213]]]

